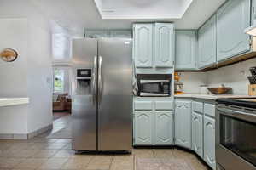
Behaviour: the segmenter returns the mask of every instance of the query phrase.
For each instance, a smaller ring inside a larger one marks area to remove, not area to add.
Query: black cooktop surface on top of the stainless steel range
[[[218,104],[234,105],[234,106],[256,109],[256,98],[255,99],[217,99],[216,101]]]

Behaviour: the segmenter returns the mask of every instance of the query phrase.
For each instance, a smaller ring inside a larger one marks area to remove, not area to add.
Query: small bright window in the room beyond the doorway
[[[55,93],[64,92],[64,70],[55,69],[54,91]]]

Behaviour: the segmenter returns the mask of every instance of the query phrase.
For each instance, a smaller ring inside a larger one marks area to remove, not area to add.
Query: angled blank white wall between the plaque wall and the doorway
[[[52,123],[51,34],[47,20],[29,22],[28,133]]]

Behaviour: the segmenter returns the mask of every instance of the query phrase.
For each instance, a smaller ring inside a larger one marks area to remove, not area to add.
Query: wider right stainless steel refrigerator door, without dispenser
[[[98,150],[131,150],[132,42],[104,38],[98,50]]]

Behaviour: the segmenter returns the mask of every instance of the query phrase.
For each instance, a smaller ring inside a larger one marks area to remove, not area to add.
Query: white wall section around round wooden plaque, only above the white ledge
[[[0,18],[0,51],[14,48],[19,54],[12,63],[0,59],[0,97],[27,96],[27,32],[26,18]]]

